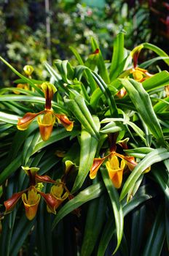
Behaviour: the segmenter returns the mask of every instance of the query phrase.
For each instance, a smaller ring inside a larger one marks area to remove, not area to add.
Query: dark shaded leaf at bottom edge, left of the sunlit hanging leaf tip
[[[81,256],[90,256],[92,254],[105,222],[105,211],[106,198],[104,196],[91,201],[87,211]]]

